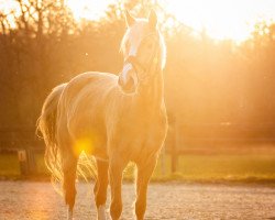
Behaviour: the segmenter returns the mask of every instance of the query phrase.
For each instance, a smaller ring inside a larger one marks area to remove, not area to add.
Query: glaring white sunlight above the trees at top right
[[[244,41],[255,22],[275,18],[275,1],[272,0],[166,0],[164,4],[184,24],[198,32],[206,30],[217,40]]]

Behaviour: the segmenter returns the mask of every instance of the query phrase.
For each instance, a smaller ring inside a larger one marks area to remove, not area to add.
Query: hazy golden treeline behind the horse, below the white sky
[[[100,21],[76,21],[62,0],[15,1],[20,13],[0,12],[1,131],[34,128],[51,89],[77,74],[118,74],[122,68],[121,1]],[[140,2],[123,7],[138,16],[152,8],[158,12],[167,45],[166,103],[180,136],[275,138],[275,24],[255,24],[241,44],[215,41],[207,31],[182,24],[155,1]]]

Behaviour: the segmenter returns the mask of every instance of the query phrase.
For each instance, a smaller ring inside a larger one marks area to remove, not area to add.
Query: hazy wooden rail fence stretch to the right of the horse
[[[193,123],[172,120],[165,153],[170,156],[170,170],[178,170],[180,155],[248,154],[275,152],[275,123]]]

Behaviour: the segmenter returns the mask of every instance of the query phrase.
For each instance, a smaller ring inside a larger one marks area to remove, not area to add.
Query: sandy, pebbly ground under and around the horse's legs
[[[92,184],[78,184],[75,219],[96,219]],[[66,219],[50,183],[0,182],[0,219]],[[133,218],[134,186],[123,185],[124,220]],[[260,185],[151,184],[147,220],[275,219],[275,188]]]

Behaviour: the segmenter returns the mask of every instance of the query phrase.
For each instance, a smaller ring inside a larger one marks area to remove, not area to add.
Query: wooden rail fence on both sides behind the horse
[[[271,124],[267,125],[268,130],[275,131],[275,129],[272,129],[270,127]],[[260,133],[262,132],[262,130],[266,129],[266,125],[263,124],[257,124],[256,127],[261,129]],[[253,130],[253,128],[251,128],[251,125],[232,125],[224,123],[177,124],[175,123],[175,121],[172,121],[165,144],[165,154],[170,156],[172,173],[177,172],[178,157],[184,154],[201,155],[219,153],[228,154],[230,152],[234,153],[237,152],[237,150],[232,147],[232,145],[238,146],[238,153],[242,153],[242,151],[243,153],[245,153],[248,147],[239,147],[240,145],[250,143],[251,150],[251,144],[275,144],[275,139],[272,135],[264,138],[248,138],[246,134],[250,133],[251,130]],[[191,135],[189,132],[190,130],[193,131]],[[201,133],[196,134],[194,133],[194,130],[197,130]],[[222,131],[223,133],[220,131]],[[234,135],[228,135],[229,133],[232,134],[235,132],[238,132],[239,138]],[[189,136],[185,134],[188,134]],[[35,135],[34,127],[0,128],[0,151],[16,152],[21,174],[29,175],[36,172],[34,154],[36,152],[44,151],[44,143]],[[164,166],[164,163],[162,166]]]

